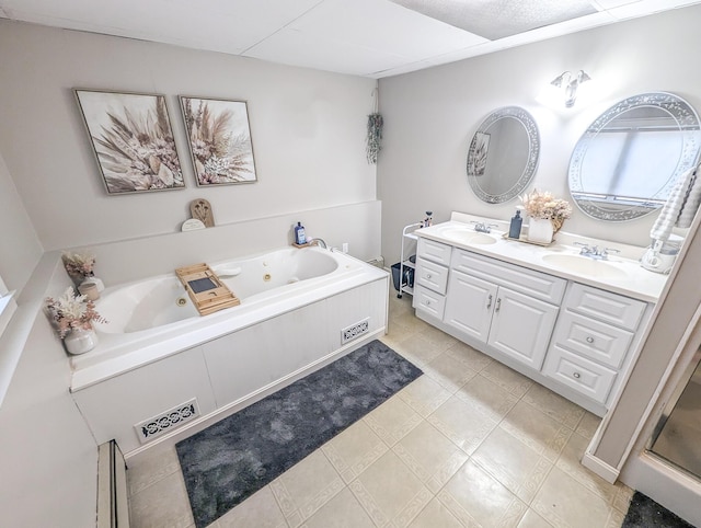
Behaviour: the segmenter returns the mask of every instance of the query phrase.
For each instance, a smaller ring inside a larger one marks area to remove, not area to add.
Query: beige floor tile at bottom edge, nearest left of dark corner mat
[[[607,526],[612,510],[606,501],[555,467],[531,503],[541,517],[558,527]]]

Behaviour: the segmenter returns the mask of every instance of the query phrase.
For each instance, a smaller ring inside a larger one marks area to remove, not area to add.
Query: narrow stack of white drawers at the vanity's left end
[[[426,239],[420,239],[416,246],[412,306],[436,319],[443,319],[446,305],[451,252],[450,245]]]

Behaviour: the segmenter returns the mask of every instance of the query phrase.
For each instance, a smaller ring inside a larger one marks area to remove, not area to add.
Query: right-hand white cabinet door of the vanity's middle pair
[[[558,307],[499,288],[489,344],[540,370],[556,319]]]

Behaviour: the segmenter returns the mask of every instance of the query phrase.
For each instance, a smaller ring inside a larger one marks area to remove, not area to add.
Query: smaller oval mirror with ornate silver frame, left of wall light
[[[524,108],[492,112],[474,133],[468,151],[468,183],[478,197],[501,204],[518,196],[536,174],[540,137]]]

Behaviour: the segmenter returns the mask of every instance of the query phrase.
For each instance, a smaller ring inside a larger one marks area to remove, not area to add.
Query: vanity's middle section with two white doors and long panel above
[[[456,249],[443,321],[540,370],[566,280]]]

